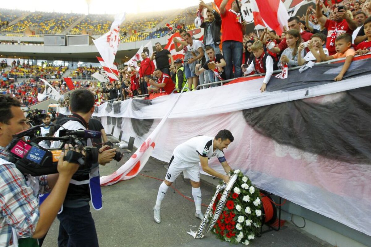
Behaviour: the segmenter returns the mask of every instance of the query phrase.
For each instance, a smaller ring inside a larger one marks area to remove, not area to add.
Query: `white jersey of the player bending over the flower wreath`
[[[174,159],[183,163],[198,163],[200,162],[199,155],[203,157],[224,157],[223,151],[213,150],[214,137],[196,136],[188,141],[175,147],[173,151]]]

